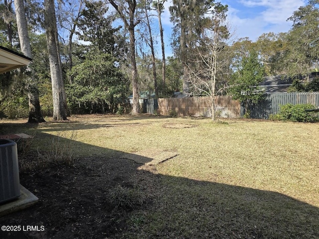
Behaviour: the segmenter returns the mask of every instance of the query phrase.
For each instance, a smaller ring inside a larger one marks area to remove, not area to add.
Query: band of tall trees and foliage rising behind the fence
[[[182,91],[184,96],[207,95],[198,89],[194,94],[195,75],[206,83],[214,79],[214,90],[211,84],[200,87],[210,95],[232,94],[243,101],[247,97],[258,98],[261,75],[301,78],[290,91],[317,89],[317,80],[309,76],[319,71],[319,0],[309,0],[292,13],[288,32],[268,32],[256,41],[242,38],[233,42],[229,41],[230,27],[216,24],[226,19],[227,5],[215,0],[173,0],[169,7],[172,37],[170,42],[164,42],[164,3],[165,0],[25,1],[33,58],[30,69],[42,109],[51,114],[57,92],[61,92],[60,101],[67,98],[68,106],[62,105],[69,108],[69,113],[80,112],[79,106],[86,109],[83,112],[114,112],[115,105],[124,104],[125,97],[133,93],[133,112],[137,113],[139,89],[154,91],[158,97],[172,96],[174,91]],[[55,14],[51,14],[53,9]],[[0,13],[0,44],[22,52],[13,2],[0,0]],[[51,31],[52,26],[56,29]],[[48,48],[49,44],[53,45]],[[173,56],[165,59],[169,45]],[[52,57],[57,71],[50,69]],[[0,78],[7,76],[9,80],[1,80],[5,85],[1,89],[5,92],[0,99],[1,110],[12,104],[11,93],[25,107],[28,82],[17,80],[17,71]],[[62,87],[57,92],[57,85],[52,87],[56,76]],[[16,90],[10,93],[8,89]]]

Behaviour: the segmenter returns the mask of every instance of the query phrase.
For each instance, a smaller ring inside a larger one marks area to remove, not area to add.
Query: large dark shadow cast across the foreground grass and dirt
[[[34,140],[52,137],[41,132]],[[0,226],[45,230],[11,232],[12,238],[319,238],[319,208],[310,204],[271,191],[161,175],[129,160],[131,154],[67,141],[97,153],[72,167],[22,173],[21,184],[40,201],[0,218]],[[0,238],[9,236],[0,232]]]

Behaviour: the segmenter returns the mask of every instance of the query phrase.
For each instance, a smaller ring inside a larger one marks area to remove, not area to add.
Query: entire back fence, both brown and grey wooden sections
[[[253,119],[268,119],[278,114],[281,105],[312,104],[319,108],[319,92],[294,92],[267,94],[258,103],[249,103],[248,110]],[[210,97],[140,99],[142,113],[169,115],[175,112],[178,116],[211,117]],[[231,96],[215,97],[216,116],[221,118],[240,118],[245,114],[244,104],[233,100]]]

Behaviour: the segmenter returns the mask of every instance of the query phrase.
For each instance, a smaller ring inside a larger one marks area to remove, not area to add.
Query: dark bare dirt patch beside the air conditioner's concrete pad
[[[72,166],[51,165],[20,173],[21,185],[39,202],[1,217],[0,225],[44,226],[44,231],[0,231],[0,238],[116,238],[127,229],[130,211],[152,203],[150,190],[156,184],[156,178],[150,177],[154,174],[138,170],[141,164],[122,156],[92,156],[77,159]],[[20,156],[19,161],[33,157]]]

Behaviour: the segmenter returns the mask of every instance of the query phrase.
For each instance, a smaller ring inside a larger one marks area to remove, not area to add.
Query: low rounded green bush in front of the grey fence
[[[280,113],[271,115],[272,120],[290,120],[293,122],[314,122],[318,120],[316,114],[307,112],[306,110],[315,109],[312,104],[286,104],[280,107]]]

